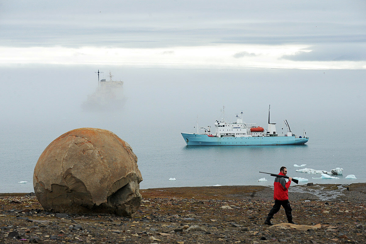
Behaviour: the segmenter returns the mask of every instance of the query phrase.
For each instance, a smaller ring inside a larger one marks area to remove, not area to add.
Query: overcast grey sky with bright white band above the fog
[[[0,65],[366,68],[366,1],[7,1]]]

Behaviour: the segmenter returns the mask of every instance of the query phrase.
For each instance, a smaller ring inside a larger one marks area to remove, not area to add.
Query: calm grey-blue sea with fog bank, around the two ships
[[[124,81],[126,103],[85,111],[100,79]],[[366,182],[366,83],[363,70],[270,70],[190,67],[10,65],[1,67],[0,192],[33,192],[33,170],[52,140],[75,128],[108,129],[138,157],[141,189],[273,185],[279,173],[315,184]],[[181,132],[212,126],[225,106],[243,120],[285,134],[286,119],[302,145],[187,146]],[[283,128],[283,129],[282,129]],[[294,165],[306,165],[295,167]],[[339,179],[296,172],[342,168]],[[357,179],[346,179],[354,174]],[[175,178],[176,180],[169,180]],[[258,181],[265,178],[266,181]],[[19,183],[26,181],[26,183]],[[292,183],[294,184],[294,183]]]

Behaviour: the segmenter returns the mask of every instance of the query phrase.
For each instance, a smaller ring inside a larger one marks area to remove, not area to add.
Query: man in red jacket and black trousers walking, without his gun
[[[286,174],[287,169],[284,166],[282,166],[279,175],[286,176]],[[280,210],[281,206],[283,206],[283,208],[285,209],[287,221],[291,224],[295,224],[292,221],[292,214],[291,214],[292,209],[290,206],[290,202],[288,201],[288,187],[291,184],[291,180],[292,178],[289,177],[288,182],[286,183],[285,178],[276,177],[275,183],[273,183],[273,185],[275,186],[275,192],[273,194],[273,198],[275,199],[275,205],[273,205],[272,209],[269,211],[267,219],[266,221],[264,221],[264,224],[272,225],[270,220],[273,217],[273,215]]]

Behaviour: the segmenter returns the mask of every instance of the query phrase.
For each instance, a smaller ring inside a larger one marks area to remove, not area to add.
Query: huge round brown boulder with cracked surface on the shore
[[[131,217],[141,204],[141,172],[130,145],[111,131],[80,128],[51,142],[34,168],[47,211]]]

